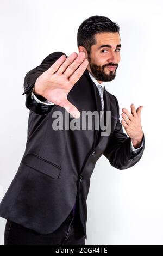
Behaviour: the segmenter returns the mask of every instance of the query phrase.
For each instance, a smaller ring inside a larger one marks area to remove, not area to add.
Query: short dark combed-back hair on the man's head
[[[119,32],[120,27],[105,16],[91,16],[78,28],[77,44],[86,48],[90,55],[91,46],[96,44],[95,34],[102,32]]]

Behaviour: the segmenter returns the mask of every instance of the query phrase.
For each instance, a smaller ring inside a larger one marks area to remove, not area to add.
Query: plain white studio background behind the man
[[[24,76],[52,52],[78,53],[77,30],[92,15],[120,25],[121,62],[106,83],[122,108],[141,105],[146,148],[133,167],[118,170],[102,156],[87,198],[86,245],[163,245],[162,1],[0,1],[1,173],[4,196],[22,159],[29,110]],[[0,218],[0,243],[6,220]]]

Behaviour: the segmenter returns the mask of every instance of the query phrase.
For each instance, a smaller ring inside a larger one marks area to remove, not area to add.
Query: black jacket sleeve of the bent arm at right
[[[116,97],[115,97],[116,99]],[[119,106],[116,99],[118,113]],[[108,147],[104,151],[104,156],[109,160],[110,164],[119,169],[127,169],[134,166],[142,157],[143,151],[145,149],[145,136],[143,133],[143,146],[139,152],[132,154],[131,152],[131,138],[123,132],[123,127],[120,121],[120,115],[118,115],[118,120],[114,132],[112,133]]]

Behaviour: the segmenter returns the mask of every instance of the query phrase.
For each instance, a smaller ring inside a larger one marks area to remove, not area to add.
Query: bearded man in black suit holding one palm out
[[[107,17],[89,17],[78,29],[79,54],[54,52],[26,74],[26,150],[0,204],[5,245],[85,245],[86,199],[97,160],[104,154],[122,170],[141,159],[143,106],[123,108],[121,124],[118,101],[105,89],[120,62],[119,29]],[[98,129],[95,119],[92,129],[65,128],[67,113],[74,128],[83,112],[99,114]],[[56,128],[60,114],[63,129]],[[103,120],[109,133],[102,133]]]

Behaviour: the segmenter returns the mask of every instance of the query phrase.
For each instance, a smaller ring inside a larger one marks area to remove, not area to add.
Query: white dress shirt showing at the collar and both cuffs
[[[89,72],[89,71],[88,71],[88,72]],[[104,94],[104,82],[98,83],[98,81],[96,80],[96,78],[95,78],[94,76],[92,76],[92,74],[91,74],[90,72],[89,72],[89,75],[90,75],[92,81],[96,84],[96,86],[98,86],[98,84],[101,84],[102,89],[103,89],[103,94]],[[33,90],[32,90],[31,98],[34,99],[37,103],[42,103],[42,104],[45,104],[45,105],[55,105],[55,103],[53,103],[53,102],[51,102],[51,101],[48,101],[48,100],[41,101],[41,100],[37,99],[37,97],[36,97],[36,95],[33,93],[33,91],[34,91],[34,87],[33,87]],[[131,141],[131,145],[130,145],[131,152],[132,152],[132,153],[137,153],[137,152],[142,148],[143,143],[144,143],[144,139],[143,139],[143,141],[142,141],[142,143],[141,143],[141,146],[140,146],[139,148],[135,149],[134,146],[133,146],[133,143],[132,143],[132,141]]]

